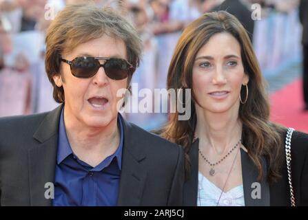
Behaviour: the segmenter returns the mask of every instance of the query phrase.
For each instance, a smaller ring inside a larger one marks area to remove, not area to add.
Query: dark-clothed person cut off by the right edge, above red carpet
[[[302,24],[302,88],[304,110],[308,111],[308,1],[300,0],[300,23]]]

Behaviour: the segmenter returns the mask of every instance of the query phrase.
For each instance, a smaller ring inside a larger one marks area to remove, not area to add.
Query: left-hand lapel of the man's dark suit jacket
[[[45,184],[54,183],[54,172],[57,159],[57,142],[59,118],[63,104],[50,111],[33,138],[39,143],[28,151],[30,205],[51,206],[51,199],[45,199]]]

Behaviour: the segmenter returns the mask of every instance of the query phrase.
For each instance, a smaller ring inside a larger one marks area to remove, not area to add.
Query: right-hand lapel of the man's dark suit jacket
[[[121,117],[121,115],[120,115]],[[143,146],[138,144],[138,133],[134,127],[123,122],[124,144],[119,186],[118,206],[140,206],[147,172],[140,164],[145,159]]]

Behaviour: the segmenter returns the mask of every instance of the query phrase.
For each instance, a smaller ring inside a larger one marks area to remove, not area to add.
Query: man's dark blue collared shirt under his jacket
[[[119,147],[114,154],[92,167],[74,155],[65,131],[63,109],[59,122],[52,206],[116,206],[123,149],[121,118],[118,115]]]

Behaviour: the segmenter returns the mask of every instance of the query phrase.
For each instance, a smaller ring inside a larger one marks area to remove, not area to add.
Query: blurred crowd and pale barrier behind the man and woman
[[[0,0],[0,116],[38,113],[57,107],[57,103],[52,100],[52,87],[45,76],[43,63],[45,30],[66,4],[81,2],[88,1]],[[286,40],[288,43],[297,42],[300,36],[298,28],[300,25],[296,20],[299,3],[297,0],[96,0],[94,2],[102,7],[116,8],[136,26],[143,41],[143,60],[132,80],[132,83],[138,83],[138,89],[165,88],[167,67],[181,30],[187,23],[205,12],[227,10],[238,17],[249,32],[263,67],[272,65],[265,56],[269,47],[264,46],[266,45],[264,41],[267,41],[264,32],[269,34],[268,32],[275,30],[273,28],[269,30],[267,22],[267,20],[276,21],[269,19],[273,14],[276,17],[280,16],[283,22],[288,19],[289,28],[293,28],[287,30],[293,33],[287,34],[286,38],[293,35],[292,39]],[[262,15],[256,21],[251,19],[251,11],[256,9],[251,5],[255,3],[260,5]],[[282,30],[282,28],[277,30],[279,33],[273,36],[268,44],[275,43],[275,37],[281,36]],[[273,62],[277,65],[278,61]],[[154,126],[150,124],[151,121],[156,124],[163,123],[166,114],[132,113],[126,117],[140,126],[150,128]],[[149,117],[154,120],[147,120]]]

